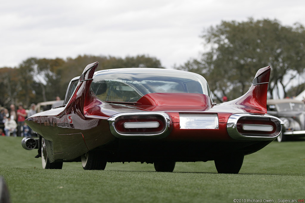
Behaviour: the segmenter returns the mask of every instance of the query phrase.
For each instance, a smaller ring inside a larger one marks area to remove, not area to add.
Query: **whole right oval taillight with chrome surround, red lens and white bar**
[[[232,114],[227,131],[236,140],[273,140],[282,132],[283,124],[282,120],[268,114]]]

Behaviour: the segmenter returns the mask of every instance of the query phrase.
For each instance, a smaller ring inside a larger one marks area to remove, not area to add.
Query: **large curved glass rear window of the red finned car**
[[[93,76],[91,89],[99,99],[113,102],[136,102],[149,93],[210,96],[208,84],[201,75],[158,68],[122,68],[100,72]]]

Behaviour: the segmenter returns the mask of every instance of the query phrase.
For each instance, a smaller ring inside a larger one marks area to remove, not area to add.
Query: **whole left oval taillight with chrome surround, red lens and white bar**
[[[118,113],[109,117],[108,122],[117,138],[165,138],[172,129],[169,115],[163,112]]]

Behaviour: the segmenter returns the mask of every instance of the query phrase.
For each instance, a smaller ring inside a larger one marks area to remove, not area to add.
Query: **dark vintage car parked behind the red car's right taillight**
[[[282,133],[277,137],[283,142],[287,137],[305,136],[304,102],[293,99],[267,100],[267,113],[284,122]]]

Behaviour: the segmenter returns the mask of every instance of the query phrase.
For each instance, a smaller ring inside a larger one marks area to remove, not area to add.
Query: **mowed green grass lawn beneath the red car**
[[[37,150],[21,138],[0,137],[0,175],[12,202],[234,202],[234,199],[305,198],[305,140],[272,142],[245,156],[239,174],[218,174],[213,161],[176,163],[173,173],[152,164],[107,163],[85,171],[81,163],[41,169]]]

